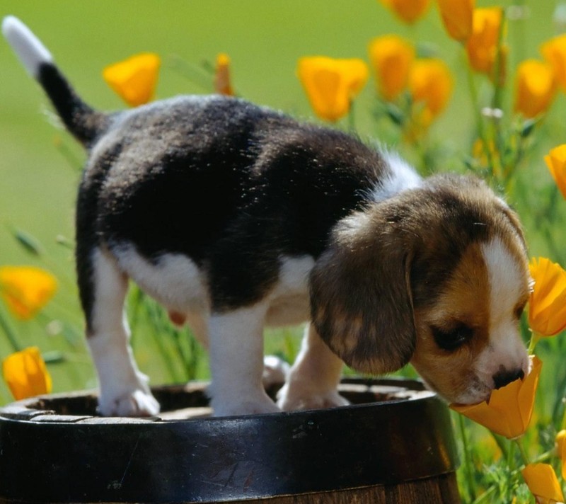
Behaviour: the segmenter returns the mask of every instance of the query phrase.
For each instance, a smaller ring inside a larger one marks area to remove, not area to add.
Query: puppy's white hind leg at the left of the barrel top
[[[153,416],[159,404],[147,377],[134,360],[124,315],[127,277],[99,249],[92,258],[93,301],[88,318],[88,347],[98,372],[98,406],[104,416]]]

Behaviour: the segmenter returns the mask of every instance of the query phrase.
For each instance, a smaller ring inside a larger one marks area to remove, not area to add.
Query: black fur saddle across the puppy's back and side
[[[318,257],[384,169],[357,139],[233,98],[174,98],[114,120],[83,182],[97,236],[154,261],[190,257],[216,310],[265,295],[281,256]]]

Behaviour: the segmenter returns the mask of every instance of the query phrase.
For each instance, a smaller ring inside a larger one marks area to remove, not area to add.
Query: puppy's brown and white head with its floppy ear
[[[318,333],[347,365],[408,362],[447,401],[477,403],[529,372],[518,219],[475,178],[437,176],[335,229],[311,273]]]

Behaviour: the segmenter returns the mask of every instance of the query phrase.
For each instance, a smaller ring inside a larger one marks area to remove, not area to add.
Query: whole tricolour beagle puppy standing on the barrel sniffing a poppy
[[[159,409],[129,347],[129,279],[208,348],[216,415],[344,405],[343,362],[410,362],[456,403],[529,372],[526,244],[482,181],[423,180],[395,154],[236,98],[101,113],[21,21],[3,31],[88,151],[76,270],[103,415]],[[263,329],[304,321],[276,404]]]

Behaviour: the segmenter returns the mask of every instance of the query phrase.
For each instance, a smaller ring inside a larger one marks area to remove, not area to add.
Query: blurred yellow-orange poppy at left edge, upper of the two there
[[[55,277],[34,266],[1,266],[0,296],[13,316],[32,319],[57,290]]]

